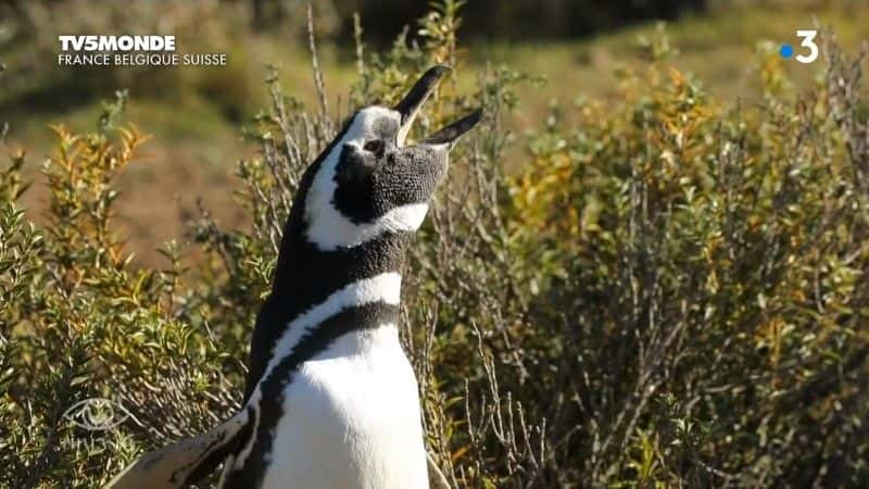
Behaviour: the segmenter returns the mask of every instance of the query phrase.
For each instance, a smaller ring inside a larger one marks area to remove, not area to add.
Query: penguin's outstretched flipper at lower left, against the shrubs
[[[244,426],[242,411],[210,431],[142,455],[103,489],[185,488],[223,462]]]

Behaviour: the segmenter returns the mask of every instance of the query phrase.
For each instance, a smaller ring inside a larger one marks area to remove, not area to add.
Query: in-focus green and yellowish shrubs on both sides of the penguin
[[[457,25],[445,2],[418,46],[360,43],[353,103],[461,66]],[[532,78],[492,68],[473,91],[442,87],[420,134],[480,102],[487,115],[407,263],[403,339],[456,487],[866,487],[869,104],[859,61],[824,53],[797,93],[761,46],[761,103],[722,106],[669,66],[662,37],[621,73],[618,102],[579,101],[519,142],[502,121]],[[269,78],[273,104],[247,129],[261,148],[238,165],[252,227],[203,212],[162,268],[134,266],[112,225],[113,179],[147,145],[119,122],[124,93],[95,133],[55,128],[46,226],[15,203],[25,156],[12,155],[0,487],[95,487],[238,409],[291,196],[338,126],[316,76],[313,109]],[[516,143],[529,161],[508,176]],[[129,416],[72,423],[91,398]]]

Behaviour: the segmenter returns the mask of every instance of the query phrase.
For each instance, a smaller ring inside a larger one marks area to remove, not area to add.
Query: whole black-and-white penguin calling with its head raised
[[[399,341],[401,271],[450,150],[482,110],[406,139],[450,72],[429,68],[394,108],[356,111],[306,168],[251,338],[243,408],[140,461],[140,473],[171,467],[160,477],[184,485],[223,462],[223,489],[429,487],[417,380]]]

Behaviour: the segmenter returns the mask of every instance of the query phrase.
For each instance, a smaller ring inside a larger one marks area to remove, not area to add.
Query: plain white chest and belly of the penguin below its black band
[[[428,488],[416,378],[393,325],[305,362],[275,430],[265,489]]]

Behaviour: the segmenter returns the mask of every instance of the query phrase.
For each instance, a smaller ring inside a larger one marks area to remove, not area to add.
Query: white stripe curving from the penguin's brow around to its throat
[[[323,251],[340,247],[356,247],[377,238],[383,233],[415,231],[423,225],[428,213],[427,203],[413,203],[389,210],[373,223],[355,224],[336,209],[332,199],[338,188],[336,168],[344,145],[362,148],[368,138],[374,138],[371,127],[375,120],[390,117],[401,122],[398,112],[379,106],[360,111],[353,118],[344,137],[332,148],[332,152],[320,164],[305,200],[307,239]]]

